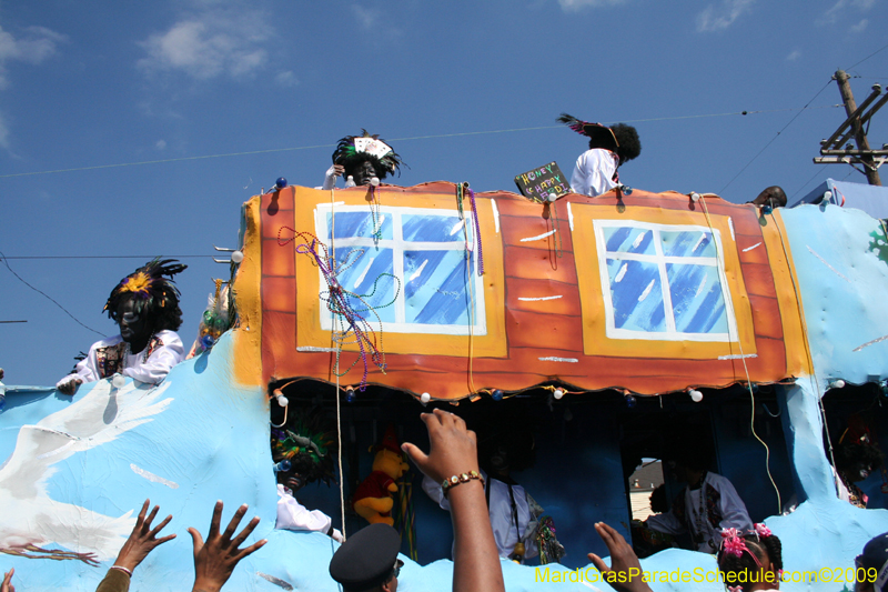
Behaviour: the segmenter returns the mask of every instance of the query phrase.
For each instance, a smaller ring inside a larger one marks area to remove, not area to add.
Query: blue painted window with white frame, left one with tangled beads
[[[371,327],[486,333],[471,212],[463,220],[456,210],[324,204],[316,230],[333,249],[337,281],[353,293],[349,304]],[[329,295],[323,277],[320,295]],[[324,313],[321,327],[340,329],[341,321]]]

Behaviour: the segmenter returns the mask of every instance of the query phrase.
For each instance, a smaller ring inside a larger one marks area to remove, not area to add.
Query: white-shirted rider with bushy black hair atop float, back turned
[[[642,153],[638,132],[632,126],[617,123],[607,128],[601,123],[581,121],[562,113],[558,121],[589,139],[589,149],[576,159],[571,188],[574,193],[596,197],[619,184],[620,164]]]

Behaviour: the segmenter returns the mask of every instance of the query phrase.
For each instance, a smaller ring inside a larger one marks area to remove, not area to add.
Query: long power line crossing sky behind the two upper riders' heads
[[[810,103],[810,101],[809,101]],[[834,107],[841,107],[841,106],[823,106],[819,108],[811,108],[811,109],[831,109]],[[686,120],[686,119],[704,119],[704,118],[715,118],[715,117],[729,117],[729,116],[753,116],[753,114],[761,114],[761,113],[777,113],[781,111],[803,111],[808,109],[806,104],[801,109],[798,108],[790,108],[790,109],[770,109],[770,110],[757,110],[757,111],[731,111],[728,113],[704,113],[704,114],[696,114],[696,116],[674,116],[674,117],[662,117],[662,118],[647,118],[647,119],[626,119],[622,120],[626,123],[648,123],[652,121],[678,121],[678,120]],[[440,139],[440,138],[460,138],[465,136],[487,136],[494,133],[514,133],[521,131],[536,131],[536,130],[554,130],[554,129],[563,129],[564,126],[539,126],[534,128],[511,128],[504,130],[484,130],[484,131],[465,131],[465,132],[457,132],[457,133],[440,133],[434,136],[414,136],[410,138],[392,138],[393,142],[406,142],[411,140],[432,140],[432,139]],[[295,150],[314,150],[320,148],[334,148],[336,144],[315,144],[315,146],[300,146],[300,147],[291,147],[291,148],[270,148],[268,150],[250,150],[244,152],[228,152],[224,154],[204,154],[200,157],[181,157],[181,158],[173,158],[173,159],[160,159],[160,160],[143,160],[137,162],[121,162],[117,164],[94,164],[91,167],[73,167],[69,169],[54,169],[54,170],[47,170],[47,171],[32,171],[32,172],[17,172],[10,174],[0,174],[0,179],[11,179],[13,177],[34,177],[39,174],[56,174],[62,172],[79,172],[79,171],[94,171],[100,169],[118,169],[123,167],[141,167],[145,164],[167,164],[171,162],[185,162],[190,160],[209,160],[209,159],[218,159],[218,158],[231,158],[231,157],[245,157],[245,155],[253,155],[253,154],[270,154],[274,152],[292,152]]]

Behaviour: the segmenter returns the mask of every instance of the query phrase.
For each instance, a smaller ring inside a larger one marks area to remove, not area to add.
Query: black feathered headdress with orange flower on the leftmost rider
[[[124,298],[132,298],[138,312],[148,311],[150,315],[170,315],[179,311],[179,289],[172,281],[172,277],[181,273],[188,268],[175,259],[160,258],[149,261],[143,267],[137,269],[118,283],[108,297],[104,309],[108,315],[117,321],[118,308]],[[164,278],[165,275],[165,278]],[[170,279],[167,279],[170,278]],[[180,320],[181,322],[181,320]],[[163,327],[161,329],[169,329]],[[172,330],[179,329],[176,324]]]

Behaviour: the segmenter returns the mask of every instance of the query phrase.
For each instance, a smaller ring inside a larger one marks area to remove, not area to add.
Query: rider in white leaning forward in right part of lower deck
[[[707,470],[706,448],[687,443],[674,454],[669,468],[685,488],[675,496],[672,510],[647,519],[647,528],[667,534],[689,533],[693,549],[715,553],[722,542],[722,529],[753,530],[746,504],[726,476]]]

